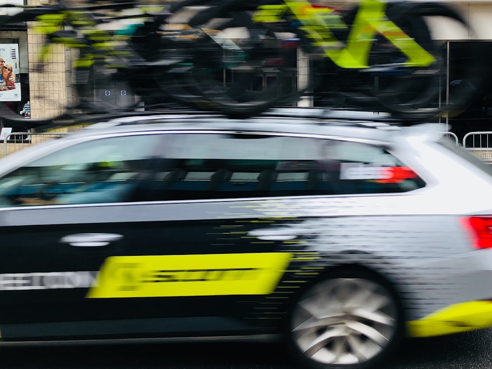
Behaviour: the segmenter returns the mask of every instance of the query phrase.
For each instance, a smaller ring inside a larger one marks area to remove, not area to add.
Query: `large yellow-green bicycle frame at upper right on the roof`
[[[348,40],[341,43],[331,32],[333,29],[347,28],[339,14],[330,8],[314,7],[307,0],[284,1],[280,5],[261,5],[253,14],[253,21],[275,23],[285,13],[291,13],[300,23],[314,46],[323,49],[325,57],[330,58],[341,68],[369,68],[369,52],[376,34],[381,34],[407,56],[398,65],[405,67],[429,66],[436,59],[420,46],[412,37],[402,31],[386,16],[386,1],[364,0],[355,17]]]

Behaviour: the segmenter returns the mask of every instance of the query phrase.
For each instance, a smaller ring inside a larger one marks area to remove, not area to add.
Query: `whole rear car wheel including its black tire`
[[[288,319],[290,352],[312,369],[374,368],[404,333],[392,286],[360,270],[338,271],[310,285]]]

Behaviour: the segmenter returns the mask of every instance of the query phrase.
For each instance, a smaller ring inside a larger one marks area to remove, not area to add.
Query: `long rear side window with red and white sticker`
[[[385,149],[358,142],[261,134],[167,135],[147,199],[403,192],[424,186]]]

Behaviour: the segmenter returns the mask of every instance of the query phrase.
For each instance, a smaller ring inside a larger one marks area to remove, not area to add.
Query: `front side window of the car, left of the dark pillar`
[[[0,206],[132,201],[160,137],[101,138],[39,157],[0,179]]]

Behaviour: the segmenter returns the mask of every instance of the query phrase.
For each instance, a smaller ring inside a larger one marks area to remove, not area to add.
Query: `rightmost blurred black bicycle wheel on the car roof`
[[[421,120],[466,106],[477,91],[480,58],[470,47],[461,60],[453,61],[461,69],[455,78],[464,82],[460,89],[451,89],[446,80],[449,61],[445,48],[432,34],[430,24],[438,18],[452,24],[455,31],[469,34],[468,24],[454,10],[435,4],[397,5],[389,7],[387,15],[435,61],[428,66],[405,67],[402,63],[407,61],[407,56],[383,36],[376,35],[369,68],[357,71],[358,90],[373,98],[374,110],[386,110],[400,119]]]

